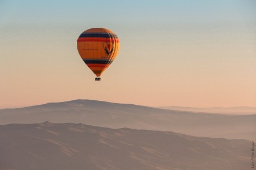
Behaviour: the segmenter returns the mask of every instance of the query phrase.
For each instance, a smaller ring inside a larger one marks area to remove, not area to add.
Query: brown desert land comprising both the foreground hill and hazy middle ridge
[[[249,169],[256,114],[96,100],[0,110],[0,169]]]

